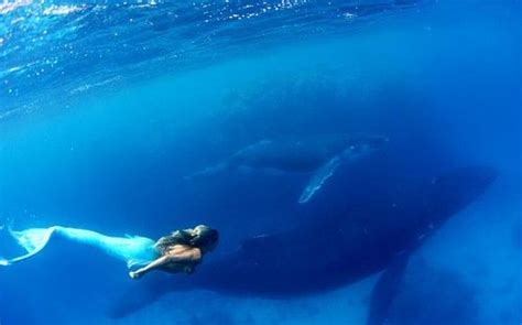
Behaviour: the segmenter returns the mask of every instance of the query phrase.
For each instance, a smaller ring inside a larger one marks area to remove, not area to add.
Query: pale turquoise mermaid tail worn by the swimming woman
[[[25,249],[26,253],[12,259],[0,258],[0,266],[3,267],[35,256],[55,236],[99,248],[107,254],[126,261],[129,269],[149,264],[159,257],[159,252],[154,248],[155,241],[140,236],[109,237],[91,230],[62,226],[31,228],[21,231],[9,230],[9,232]]]

